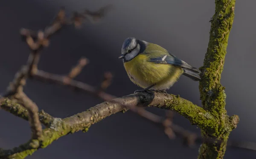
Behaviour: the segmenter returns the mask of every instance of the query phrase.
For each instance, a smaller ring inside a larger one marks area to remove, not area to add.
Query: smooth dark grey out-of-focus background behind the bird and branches
[[[55,34],[48,48],[41,51],[38,68],[55,74],[67,74],[84,56],[90,60],[76,80],[98,86],[103,73],[114,74],[107,92],[115,96],[131,94],[138,89],[129,79],[119,60],[127,37],[163,46],[192,66],[203,65],[209,41],[209,20],[214,14],[214,0],[2,0],[0,1],[0,91],[6,90],[15,72],[26,64],[29,48],[22,42],[20,28],[44,29],[61,6],[72,11],[95,11],[113,4],[100,23],[84,23],[81,29],[67,26]],[[230,140],[256,142],[255,0],[236,1],[235,20],[229,37],[221,83],[226,87],[227,112],[240,117]],[[94,106],[102,100],[74,92],[60,85],[28,80],[25,93],[39,109],[55,117],[68,117]],[[187,77],[168,91],[201,105],[198,82]],[[149,108],[164,115],[165,111]],[[174,122],[200,134],[196,126],[175,115]],[[29,123],[0,110],[0,148],[13,148],[30,138]],[[128,111],[114,114],[87,133],[67,135],[40,149],[28,159],[196,159],[195,148],[182,145],[180,138],[170,140],[163,129]],[[225,159],[255,159],[256,152],[227,148]]]

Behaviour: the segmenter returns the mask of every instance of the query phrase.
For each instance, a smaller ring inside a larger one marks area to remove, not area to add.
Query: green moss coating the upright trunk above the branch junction
[[[224,87],[221,86],[220,79],[227,52],[227,40],[233,23],[235,0],[216,0],[215,3],[207,54],[204,66],[200,68],[203,72],[200,91],[204,108],[219,112],[225,106],[225,96],[221,92]]]

